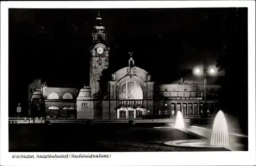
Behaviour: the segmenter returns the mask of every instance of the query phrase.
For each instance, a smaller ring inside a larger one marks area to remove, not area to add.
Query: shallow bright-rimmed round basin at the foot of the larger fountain
[[[176,147],[187,147],[187,148],[226,148],[230,149],[229,146],[216,146],[210,145],[208,140],[177,140],[177,141],[168,141],[164,143],[168,146],[176,146]],[[242,144],[232,145],[232,147],[241,147]]]

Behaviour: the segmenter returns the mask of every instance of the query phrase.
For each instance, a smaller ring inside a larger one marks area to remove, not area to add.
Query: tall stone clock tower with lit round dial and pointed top
[[[106,41],[106,30],[102,24],[102,18],[98,12],[96,24],[92,33],[91,62],[90,62],[90,87],[91,95],[97,100],[101,98],[101,76],[102,72],[109,67],[109,47]]]

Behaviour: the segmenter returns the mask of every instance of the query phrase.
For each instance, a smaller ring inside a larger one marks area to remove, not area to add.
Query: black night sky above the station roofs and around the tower
[[[228,23],[228,8],[10,9],[9,109],[26,104],[35,78],[49,87],[89,85],[89,47],[98,11],[108,33],[112,73],[127,66],[133,51],[135,65],[166,84],[203,65],[205,54],[207,64],[215,66],[227,32],[236,26]]]

